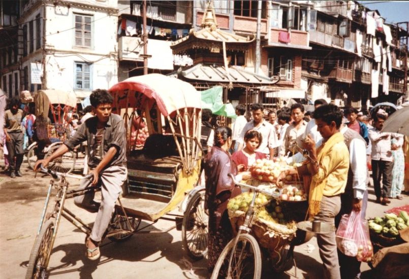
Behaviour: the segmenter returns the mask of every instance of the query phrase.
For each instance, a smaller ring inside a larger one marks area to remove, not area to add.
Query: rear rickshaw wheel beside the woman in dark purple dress
[[[193,260],[203,259],[207,250],[209,218],[205,214],[204,191],[197,192],[187,203],[182,221],[182,244]]]

